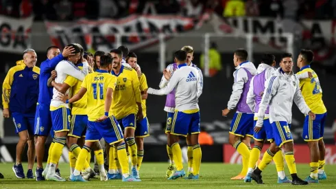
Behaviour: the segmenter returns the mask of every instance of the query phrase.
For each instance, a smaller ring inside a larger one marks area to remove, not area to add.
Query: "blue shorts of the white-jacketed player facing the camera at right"
[[[283,144],[293,141],[291,124],[287,122],[272,122],[272,131],[276,146],[281,147]]]

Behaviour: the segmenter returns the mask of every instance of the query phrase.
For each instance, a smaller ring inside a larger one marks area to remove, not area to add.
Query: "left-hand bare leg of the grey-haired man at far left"
[[[25,178],[25,173],[23,171],[23,167],[22,167],[22,153],[23,150],[25,149],[25,144],[27,144],[28,141],[28,131],[21,131],[19,133],[19,142],[18,144],[16,144],[16,160],[15,160],[15,164],[12,168],[12,170],[15,173],[15,176],[19,179],[24,179]]]

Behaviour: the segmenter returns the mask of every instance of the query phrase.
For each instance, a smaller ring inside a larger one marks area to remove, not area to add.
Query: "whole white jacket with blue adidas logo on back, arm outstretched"
[[[202,94],[200,74],[195,67],[182,64],[171,76],[166,87],[160,90],[149,88],[147,93],[156,95],[167,95],[175,89],[176,111],[199,109],[198,98]]]

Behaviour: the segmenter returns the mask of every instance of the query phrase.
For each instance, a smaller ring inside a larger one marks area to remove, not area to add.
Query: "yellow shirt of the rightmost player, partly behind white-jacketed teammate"
[[[313,69],[307,65],[302,67],[297,74],[303,74],[307,71],[313,74],[313,78],[300,79],[300,89],[304,101],[306,101],[306,104],[308,105],[309,109],[313,111],[313,113],[326,113],[326,107],[324,106],[322,100],[322,88],[320,85],[320,80],[318,79],[315,71],[313,71]]]

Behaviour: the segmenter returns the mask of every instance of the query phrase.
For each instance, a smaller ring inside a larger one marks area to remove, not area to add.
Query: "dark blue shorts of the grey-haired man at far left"
[[[28,130],[29,134],[34,134],[35,113],[12,112],[16,134]]]

